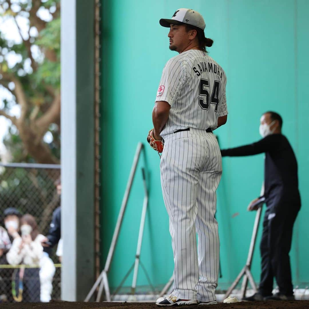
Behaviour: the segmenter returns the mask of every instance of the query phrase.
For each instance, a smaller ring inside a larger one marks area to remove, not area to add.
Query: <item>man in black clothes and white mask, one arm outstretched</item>
[[[260,141],[221,150],[222,157],[265,153],[264,197],[267,209],[260,243],[260,286],[257,293],[243,300],[294,300],[289,252],[301,201],[296,157],[281,128],[281,116],[276,112],[265,112],[260,118]],[[248,210],[257,210],[252,207],[257,199],[249,204]],[[272,294],[274,277],[279,286],[279,293],[275,295]]]

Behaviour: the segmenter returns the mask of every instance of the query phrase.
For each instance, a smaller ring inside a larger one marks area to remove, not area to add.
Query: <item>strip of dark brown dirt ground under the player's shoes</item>
[[[75,302],[50,302],[50,303],[20,303],[0,304],[0,309],[158,309],[154,303],[75,303]],[[201,307],[201,306],[200,306]],[[184,306],[185,309],[199,309],[195,306]],[[203,306],[205,308],[205,306]],[[206,307],[208,308],[208,306]],[[283,309],[283,308],[309,308],[308,300],[296,300],[291,302],[268,301],[268,302],[240,302],[210,305],[212,309]]]

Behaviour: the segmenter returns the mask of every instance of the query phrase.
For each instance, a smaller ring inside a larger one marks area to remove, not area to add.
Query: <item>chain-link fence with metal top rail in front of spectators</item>
[[[60,171],[60,165],[0,163],[0,303],[61,298],[61,264],[56,255],[57,248],[49,254],[50,260],[42,254],[41,245],[42,235],[48,234],[53,211],[60,206],[55,185],[60,180]],[[32,215],[38,235],[27,232],[24,221],[20,222],[21,231],[18,228],[23,237],[16,233],[12,235],[10,229],[14,227],[9,227],[11,223],[8,225],[7,216],[4,223],[4,211],[10,207],[22,216]]]

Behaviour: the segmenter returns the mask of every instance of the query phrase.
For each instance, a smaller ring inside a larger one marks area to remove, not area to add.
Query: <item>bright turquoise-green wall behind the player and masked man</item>
[[[102,267],[135,148],[139,141],[146,142],[152,128],[151,112],[163,66],[176,56],[168,49],[168,29],[159,26],[159,19],[171,16],[179,7],[194,8],[204,16],[205,34],[214,39],[210,56],[226,72],[229,115],[227,124],[215,132],[220,146],[258,140],[259,119],[266,110],[277,111],[283,117],[283,133],[290,140],[299,165],[302,209],[294,229],[291,260],[294,284],[302,286],[309,282],[306,0],[180,0],[176,5],[167,0],[102,0]],[[143,201],[143,166],[148,169],[150,199],[141,261],[158,288],[172,274],[159,156],[146,145],[109,273],[112,289],[120,284],[134,261]],[[226,288],[235,279],[247,259],[254,213],[248,213],[246,208],[259,195],[262,179],[263,155],[223,159],[217,205],[222,270],[219,288]],[[257,282],[258,250],[257,245],[252,265]],[[131,281],[132,274],[124,286],[130,286]],[[139,291],[148,289],[141,268],[137,284]]]

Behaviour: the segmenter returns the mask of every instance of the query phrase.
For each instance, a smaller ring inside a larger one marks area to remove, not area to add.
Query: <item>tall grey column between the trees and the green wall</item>
[[[61,298],[94,277],[94,1],[61,0]]]

